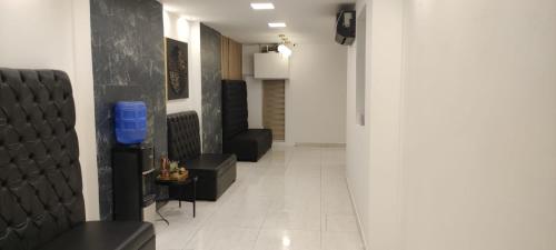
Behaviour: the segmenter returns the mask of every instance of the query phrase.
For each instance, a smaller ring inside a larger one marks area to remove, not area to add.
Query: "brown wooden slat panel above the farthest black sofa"
[[[242,46],[227,37],[221,37],[222,79],[242,80]]]

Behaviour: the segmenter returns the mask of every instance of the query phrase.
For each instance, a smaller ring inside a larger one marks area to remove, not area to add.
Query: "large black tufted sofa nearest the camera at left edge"
[[[0,249],[156,249],[150,223],[85,222],[75,124],[64,72],[0,68]]]

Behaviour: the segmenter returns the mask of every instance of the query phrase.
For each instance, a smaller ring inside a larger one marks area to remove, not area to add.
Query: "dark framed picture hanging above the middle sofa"
[[[189,98],[187,43],[166,38],[166,89],[168,100]]]

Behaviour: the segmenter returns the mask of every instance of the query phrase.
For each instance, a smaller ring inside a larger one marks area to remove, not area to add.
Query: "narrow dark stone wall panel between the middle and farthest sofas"
[[[222,152],[221,34],[201,23],[202,152]]]

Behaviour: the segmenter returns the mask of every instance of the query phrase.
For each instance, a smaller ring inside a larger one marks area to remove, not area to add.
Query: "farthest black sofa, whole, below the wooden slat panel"
[[[222,81],[222,148],[240,161],[258,161],[272,147],[272,131],[248,129],[247,86],[240,80]]]

